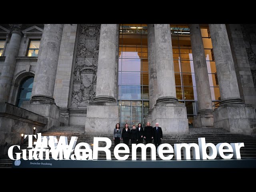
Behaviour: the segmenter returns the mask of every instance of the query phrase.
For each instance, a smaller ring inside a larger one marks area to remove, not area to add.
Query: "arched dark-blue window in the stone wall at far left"
[[[24,78],[20,83],[16,106],[20,107],[23,101],[29,101],[33,87],[34,77]]]

